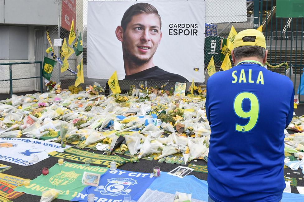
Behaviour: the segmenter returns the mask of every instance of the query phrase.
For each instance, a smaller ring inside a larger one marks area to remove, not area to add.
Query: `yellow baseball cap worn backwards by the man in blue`
[[[243,37],[245,36],[255,36],[255,41],[243,41]],[[235,36],[233,48],[235,49],[245,45],[260,46],[266,49],[266,40],[264,34],[255,29],[240,31]]]

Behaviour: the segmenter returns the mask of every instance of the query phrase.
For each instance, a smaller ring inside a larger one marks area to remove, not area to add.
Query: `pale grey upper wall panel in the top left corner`
[[[0,23],[58,25],[56,0],[1,0]]]

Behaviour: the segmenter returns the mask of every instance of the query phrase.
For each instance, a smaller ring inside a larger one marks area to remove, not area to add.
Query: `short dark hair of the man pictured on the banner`
[[[158,14],[157,9],[154,6],[152,6],[149,3],[136,3],[131,7],[129,7],[128,10],[126,10],[126,12],[124,13],[121,19],[120,26],[122,27],[123,31],[126,30],[128,23],[131,22],[132,20],[132,17],[141,13],[156,14],[159,18],[159,23],[161,28],[161,18]]]

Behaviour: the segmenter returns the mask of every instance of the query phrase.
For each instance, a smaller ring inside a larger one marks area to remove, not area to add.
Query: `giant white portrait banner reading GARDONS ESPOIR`
[[[158,11],[161,28],[154,14],[136,13],[120,33],[127,9],[142,2]],[[205,1],[88,1],[88,78],[108,79],[117,71],[118,79],[203,82],[204,30]]]

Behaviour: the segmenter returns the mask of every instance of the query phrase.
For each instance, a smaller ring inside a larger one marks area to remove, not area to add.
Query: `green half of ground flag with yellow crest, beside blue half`
[[[81,183],[85,171],[102,175],[107,170],[108,168],[104,167],[87,167],[82,164],[69,162],[65,162],[61,166],[55,164],[49,169],[48,175],[40,175],[32,180],[29,186],[20,186],[16,190],[41,196],[43,191],[54,188],[60,190],[59,199],[71,200],[86,187],[86,185]]]

